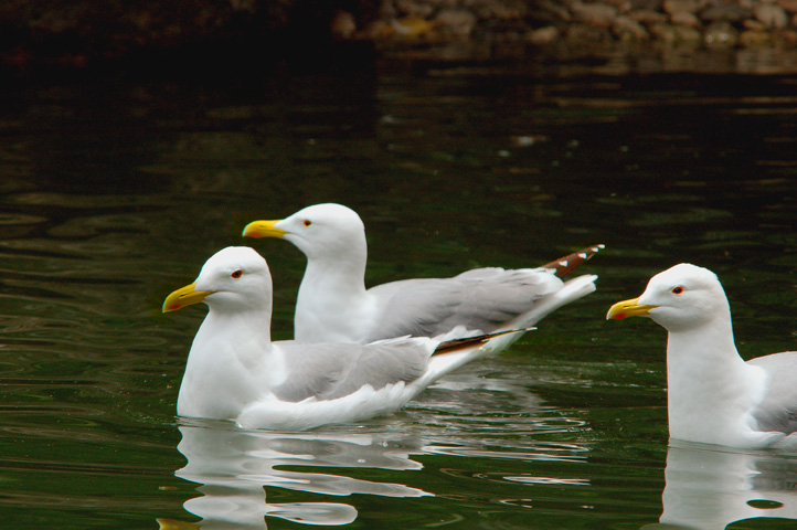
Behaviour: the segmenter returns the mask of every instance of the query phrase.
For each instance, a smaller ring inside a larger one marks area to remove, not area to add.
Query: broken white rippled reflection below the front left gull
[[[200,497],[183,507],[202,518],[196,523],[159,520],[161,529],[265,529],[266,517],[305,524],[348,524],[357,509],[343,502],[269,504],[267,488],[279,487],[312,494],[348,496],[371,494],[387,497],[421,497],[427,494],[402,484],[375,483],[340,474],[302,473],[284,469],[314,468],[419,469],[410,458],[423,453],[400,436],[334,432],[279,434],[244,431],[225,422],[194,421],[179,427],[178,451],[188,464],[176,471],[201,486]]]

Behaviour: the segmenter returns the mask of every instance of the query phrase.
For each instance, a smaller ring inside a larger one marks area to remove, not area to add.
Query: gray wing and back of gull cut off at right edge
[[[754,415],[762,431],[797,432],[797,352],[787,351],[747,361],[767,373],[767,393]]]

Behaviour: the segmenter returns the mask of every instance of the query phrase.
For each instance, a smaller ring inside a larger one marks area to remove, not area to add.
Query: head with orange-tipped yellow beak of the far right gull
[[[725,292],[708,268],[681,263],[650,278],[638,298],[618,301],[606,319],[650,317],[668,331],[695,328],[730,314]]]

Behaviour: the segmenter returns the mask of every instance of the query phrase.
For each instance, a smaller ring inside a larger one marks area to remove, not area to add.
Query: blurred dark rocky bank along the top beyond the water
[[[443,61],[721,52],[763,64],[776,56],[788,70],[796,49],[797,0],[0,3],[0,64],[22,73],[108,64],[252,65],[295,53],[322,57],[331,50]]]

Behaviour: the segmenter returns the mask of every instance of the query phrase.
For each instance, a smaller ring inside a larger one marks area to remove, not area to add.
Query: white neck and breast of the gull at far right
[[[738,356],[730,312],[669,332],[667,385],[673,438],[740,446],[756,428],[751,411],[763,399],[764,374]]]

